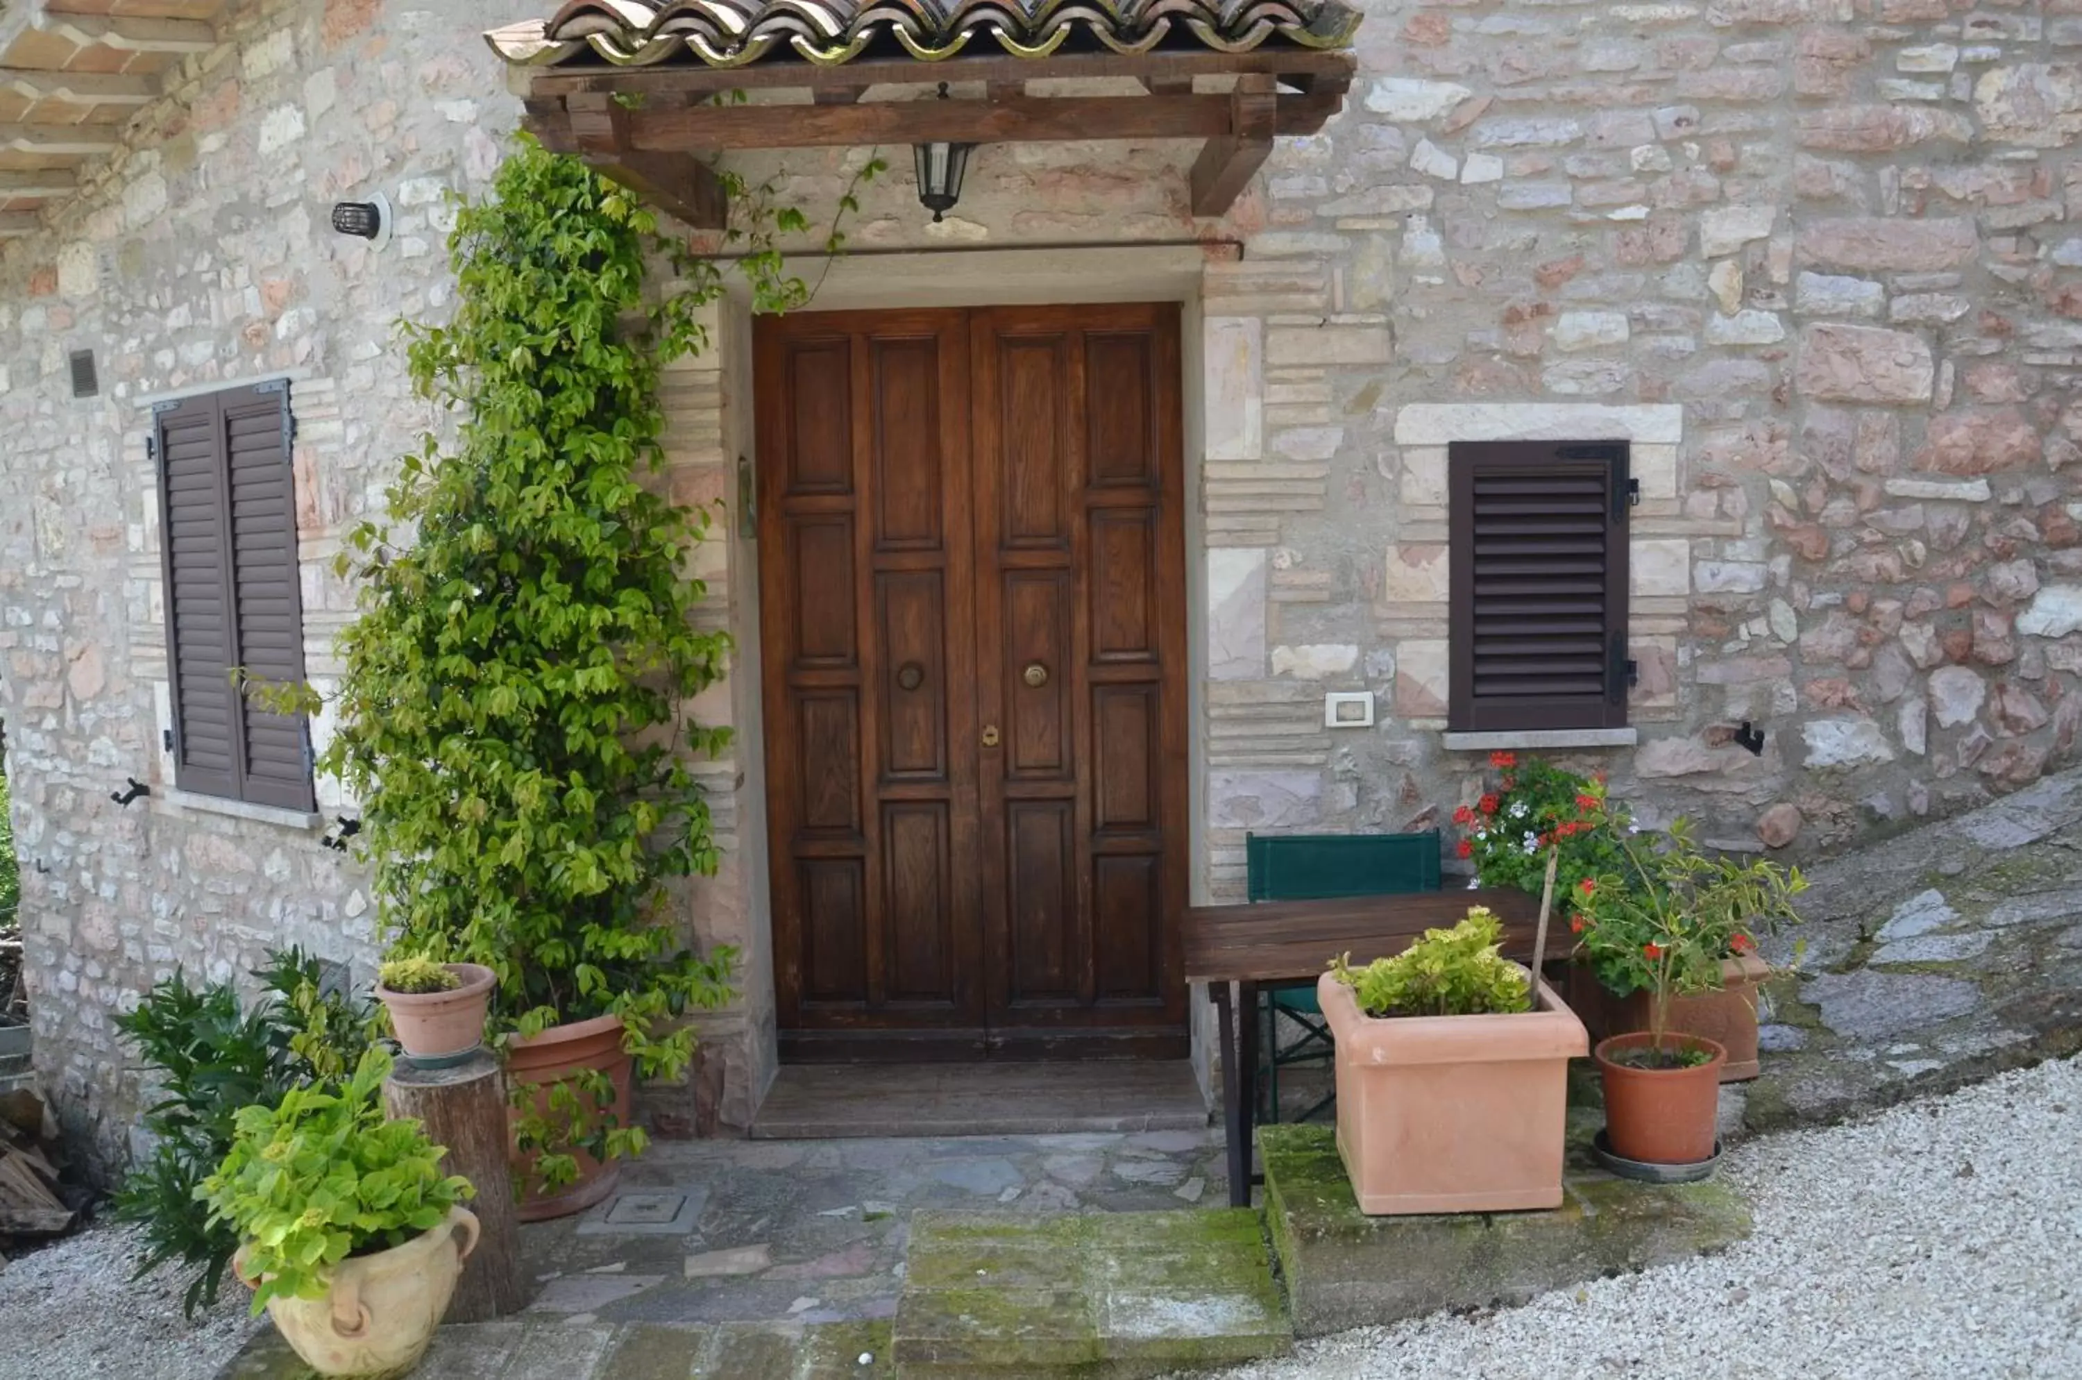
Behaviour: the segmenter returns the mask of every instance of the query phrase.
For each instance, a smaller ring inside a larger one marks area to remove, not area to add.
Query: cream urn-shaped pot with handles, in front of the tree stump
[[[269,1299],[275,1330],[321,1376],[404,1376],[433,1343],[462,1261],[477,1249],[477,1218],[460,1207],[402,1247],[333,1266],[323,1299]],[[246,1249],[233,1268],[248,1288]]]

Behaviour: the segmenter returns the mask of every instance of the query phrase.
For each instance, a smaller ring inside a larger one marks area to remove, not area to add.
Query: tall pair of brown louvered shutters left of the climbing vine
[[[171,406],[160,448],[177,785],[312,810],[304,716],[231,687],[233,668],[248,685],[304,681],[287,383]]]

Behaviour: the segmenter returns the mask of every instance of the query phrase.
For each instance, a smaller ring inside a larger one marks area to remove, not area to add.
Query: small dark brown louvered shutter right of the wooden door
[[[1459,441],[1447,466],[1451,726],[1624,726],[1626,443]]]

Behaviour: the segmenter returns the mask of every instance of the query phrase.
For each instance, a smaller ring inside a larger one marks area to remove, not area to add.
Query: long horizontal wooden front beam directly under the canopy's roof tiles
[[[824,85],[931,85],[937,81],[1031,81],[1035,77],[1220,77],[1237,73],[1272,73],[1287,85],[1303,75],[1343,77],[1347,83],[1360,60],[1347,50],[1314,52],[1305,48],[1253,48],[1251,52],[1058,52],[1049,58],[960,56],[941,62],[916,58],[864,58],[841,67],[810,67],[804,62],[754,62],[750,67],[716,69],[685,67],[537,67],[516,69],[527,75],[531,96],[570,96],[575,92],[645,92],[645,94],[710,94],[752,90],[816,90]],[[949,102],[951,104],[951,102]]]

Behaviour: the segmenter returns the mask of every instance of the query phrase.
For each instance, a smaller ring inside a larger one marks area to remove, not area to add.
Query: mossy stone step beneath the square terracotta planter
[[[1564,1170],[1568,1199],[1553,1211],[1412,1218],[1360,1211],[1328,1126],[1264,1126],[1258,1147],[1272,1249],[1299,1336],[1522,1303],[1749,1234],[1749,1203],[1728,1182],[1626,1182],[1599,1170],[1580,1139]]]

